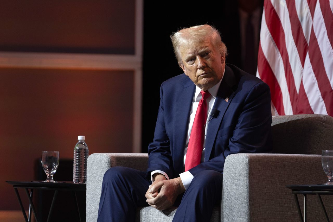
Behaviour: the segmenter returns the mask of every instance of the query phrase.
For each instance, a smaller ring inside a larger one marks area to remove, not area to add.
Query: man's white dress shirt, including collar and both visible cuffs
[[[223,71],[223,75],[224,75],[224,71]],[[218,91],[218,88],[220,87],[222,79],[223,79],[223,76],[222,76],[221,80],[215,86],[208,89],[208,92],[211,94],[211,96],[209,96],[206,99],[206,103],[207,103],[207,121],[206,122],[207,123],[206,123],[206,127],[205,127],[205,135],[204,135],[204,139],[203,139],[203,149],[202,149],[202,155],[201,155],[201,162],[204,161],[204,156],[205,156],[205,143],[206,143],[206,135],[207,135],[208,124],[209,124],[208,121],[211,118],[210,113],[211,113],[212,108],[214,106],[217,91]],[[200,94],[200,92],[201,92],[201,89],[198,86],[196,86],[195,93],[194,93],[193,100],[192,100],[192,107],[191,107],[191,111],[190,111],[190,116],[189,116],[189,124],[188,124],[187,137],[186,137],[185,149],[184,149],[183,166],[185,166],[188,141],[189,141],[189,137],[191,135],[191,130],[192,130],[193,122],[194,122],[195,113],[196,113],[196,110],[198,108],[199,101],[202,98],[202,95]],[[166,177],[166,179],[169,179],[168,175],[164,171],[154,170],[151,173],[152,182],[154,182],[153,175],[155,173],[162,173]],[[193,175],[189,171],[185,171],[183,173],[180,173],[179,176],[180,176],[180,179],[181,179],[185,189],[187,189],[189,184],[191,183],[191,181],[193,179]]]

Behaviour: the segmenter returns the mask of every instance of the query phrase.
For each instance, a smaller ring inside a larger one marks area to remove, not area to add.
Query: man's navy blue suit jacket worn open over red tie
[[[154,170],[166,172],[170,179],[184,172],[184,147],[194,92],[195,85],[185,74],[162,83],[154,141],[148,148],[148,180]],[[223,172],[229,154],[272,150],[270,91],[260,79],[226,65],[213,108],[219,114],[208,124],[204,162],[189,170],[193,176],[205,169]]]

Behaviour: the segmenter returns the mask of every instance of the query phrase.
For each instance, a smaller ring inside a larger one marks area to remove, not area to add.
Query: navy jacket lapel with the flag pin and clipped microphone
[[[235,84],[236,84],[236,79],[233,74],[233,71],[228,66],[225,66],[224,76],[220,88],[218,89],[213,107],[219,111],[219,114],[217,118],[213,118],[212,120],[209,121],[208,124],[206,143],[205,143],[205,161],[209,160],[215,142],[217,131],[219,129],[221,121],[223,120],[225,111],[227,110],[229,104],[232,101],[233,96],[235,95],[235,92],[233,90],[233,86]]]

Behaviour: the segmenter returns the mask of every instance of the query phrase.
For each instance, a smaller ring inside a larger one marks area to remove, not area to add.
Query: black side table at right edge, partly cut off
[[[324,185],[324,184],[314,184],[314,185],[287,185],[287,188],[292,190],[292,194],[294,194],[294,199],[296,202],[296,206],[297,206],[297,211],[298,211],[298,215],[301,219],[301,221],[306,222],[306,195],[310,194],[310,195],[317,195],[319,202],[320,202],[320,206],[321,209],[324,212],[325,215],[325,219],[327,222],[329,222],[328,216],[327,216],[327,212],[324,206],[324,203],[320,197],[320,195],[333,195],[333,185]],[[298,202],[298,198],[297,198],[297,194],[303,194],[304,196],[304,209],[303,209],[303,217],[302,217],[302,213],[301,213],[301,208]]]

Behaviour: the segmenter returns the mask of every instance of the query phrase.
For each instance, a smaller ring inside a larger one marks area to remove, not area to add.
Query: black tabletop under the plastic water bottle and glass
[[[14,187],[35,187],[35,188],[68,188],[86,189],[85,183],[74,183],[73,181],[58,181],[57,183],[44,183],[42,181],[6,181]]]

